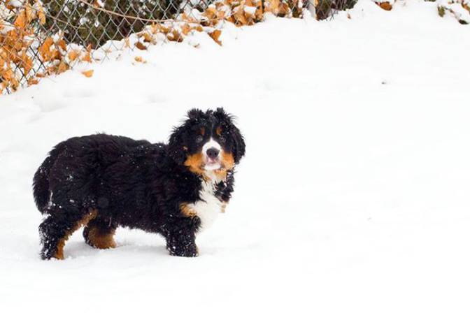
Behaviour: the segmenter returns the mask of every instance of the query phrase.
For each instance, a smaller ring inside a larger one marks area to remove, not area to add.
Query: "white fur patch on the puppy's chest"
[[[222,201],[214,196],[214,185],[211,182],[202,182],[202,189],[199,191],[201,201],[190,204],[192,210],[201,219],[199,231],[203,231],[213,224],[215,218],[222,210]]]

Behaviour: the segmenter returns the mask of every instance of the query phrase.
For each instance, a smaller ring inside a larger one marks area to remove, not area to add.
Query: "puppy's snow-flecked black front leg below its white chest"
[[[195,231],[180,228],[166,235],[166,249],[172,256],[198,256]]]

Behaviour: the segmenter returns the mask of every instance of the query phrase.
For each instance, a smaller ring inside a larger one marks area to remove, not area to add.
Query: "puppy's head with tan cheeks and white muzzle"
[[[224,176],[245,154],[245,140],[223,108],[192,109],[187,120],[173,129],[169,154],[193,173]]]

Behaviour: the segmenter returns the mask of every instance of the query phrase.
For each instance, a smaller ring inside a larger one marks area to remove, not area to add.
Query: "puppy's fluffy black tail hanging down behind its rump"
[[[38,170],[34,174],[33,178],[33,194],[34,194],[34,202],[36,203],[36,207],[38,208],[39,212],[44,213],[45,209],[49,203],[49,174],[50,169],[55,163],[57,159],[57,154],[59,154],[59,145],[54,147],[54,149],[49,152],[49,155],[41,166],[39,166]]]

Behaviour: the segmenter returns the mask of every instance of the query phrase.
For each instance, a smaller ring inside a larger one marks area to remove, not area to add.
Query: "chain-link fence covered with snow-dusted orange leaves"
[[[217,43],[225,22],[332,17],[356,0],[0,0],[0,94],[124,48],[183,41],[205,31]]]

